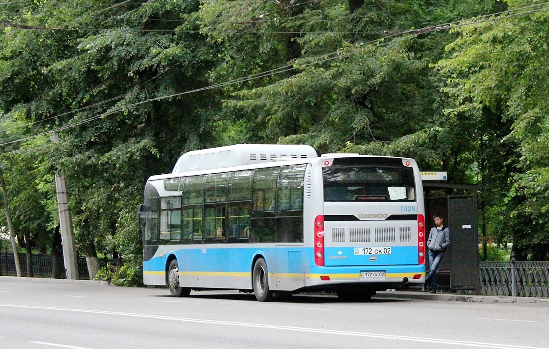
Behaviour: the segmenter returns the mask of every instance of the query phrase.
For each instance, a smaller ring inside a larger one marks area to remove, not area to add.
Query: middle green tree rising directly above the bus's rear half
[[[471,123],[444,118],[446,97],[439,91],[443,80],[429,67],[443,57],[451,37],[446,32],[399,33],[453,21],[452,8],[467,15],[489,9],[492,2],[469,7],[461,2],[360,3],[238,7],[219,0],[203,5],[203,31],[221,42],[224,59],[213,77],[280,71],[238,85],[238,92],[234,85],[225,89],[218,121],[218,128],[229,130],[225,142],[245,138],[307,143],[321,153],[360,149],[368,154],[413,155],[420,162],[432,162],[430,168],[452,170],[457,179],[463,178],[463,166],[456,159],[470,145],[464,147],[467,139],[455,132]],[[210,30],[219,27],[221,33]],[[284,43],[289,41],[299,46],[298,55],[290,54],[295,51],[287,49]],[[261,56],[265,51],[268,54]],[[276,58],[264,59],[271,55]],[[284,65],[292,69],[282,69]],[[446,140],[444,147],[438,139]]]

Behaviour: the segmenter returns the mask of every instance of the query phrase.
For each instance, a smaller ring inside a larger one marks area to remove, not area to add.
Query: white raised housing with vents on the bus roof
[[[317,157],[315,149],[306,144],[234,144],[181,155],[172,173],[210,170],[233,166],[259,164],[281,159]]]

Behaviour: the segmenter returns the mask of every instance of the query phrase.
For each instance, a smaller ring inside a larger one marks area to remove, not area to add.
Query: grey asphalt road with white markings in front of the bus
[[[0,279],[0,348],[546,348],[549,302],[299,295]]]

